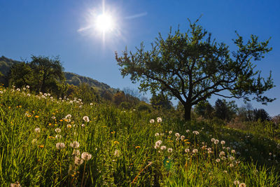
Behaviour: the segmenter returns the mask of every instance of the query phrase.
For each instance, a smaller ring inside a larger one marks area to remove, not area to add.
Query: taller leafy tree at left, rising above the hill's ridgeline
[[[53,86],[57,81],[64,81],[63,67],[59,57],[50,59],[43,56],[31,56],[29,63],[33,71],[37,92],[46,92],[49,86]]]

